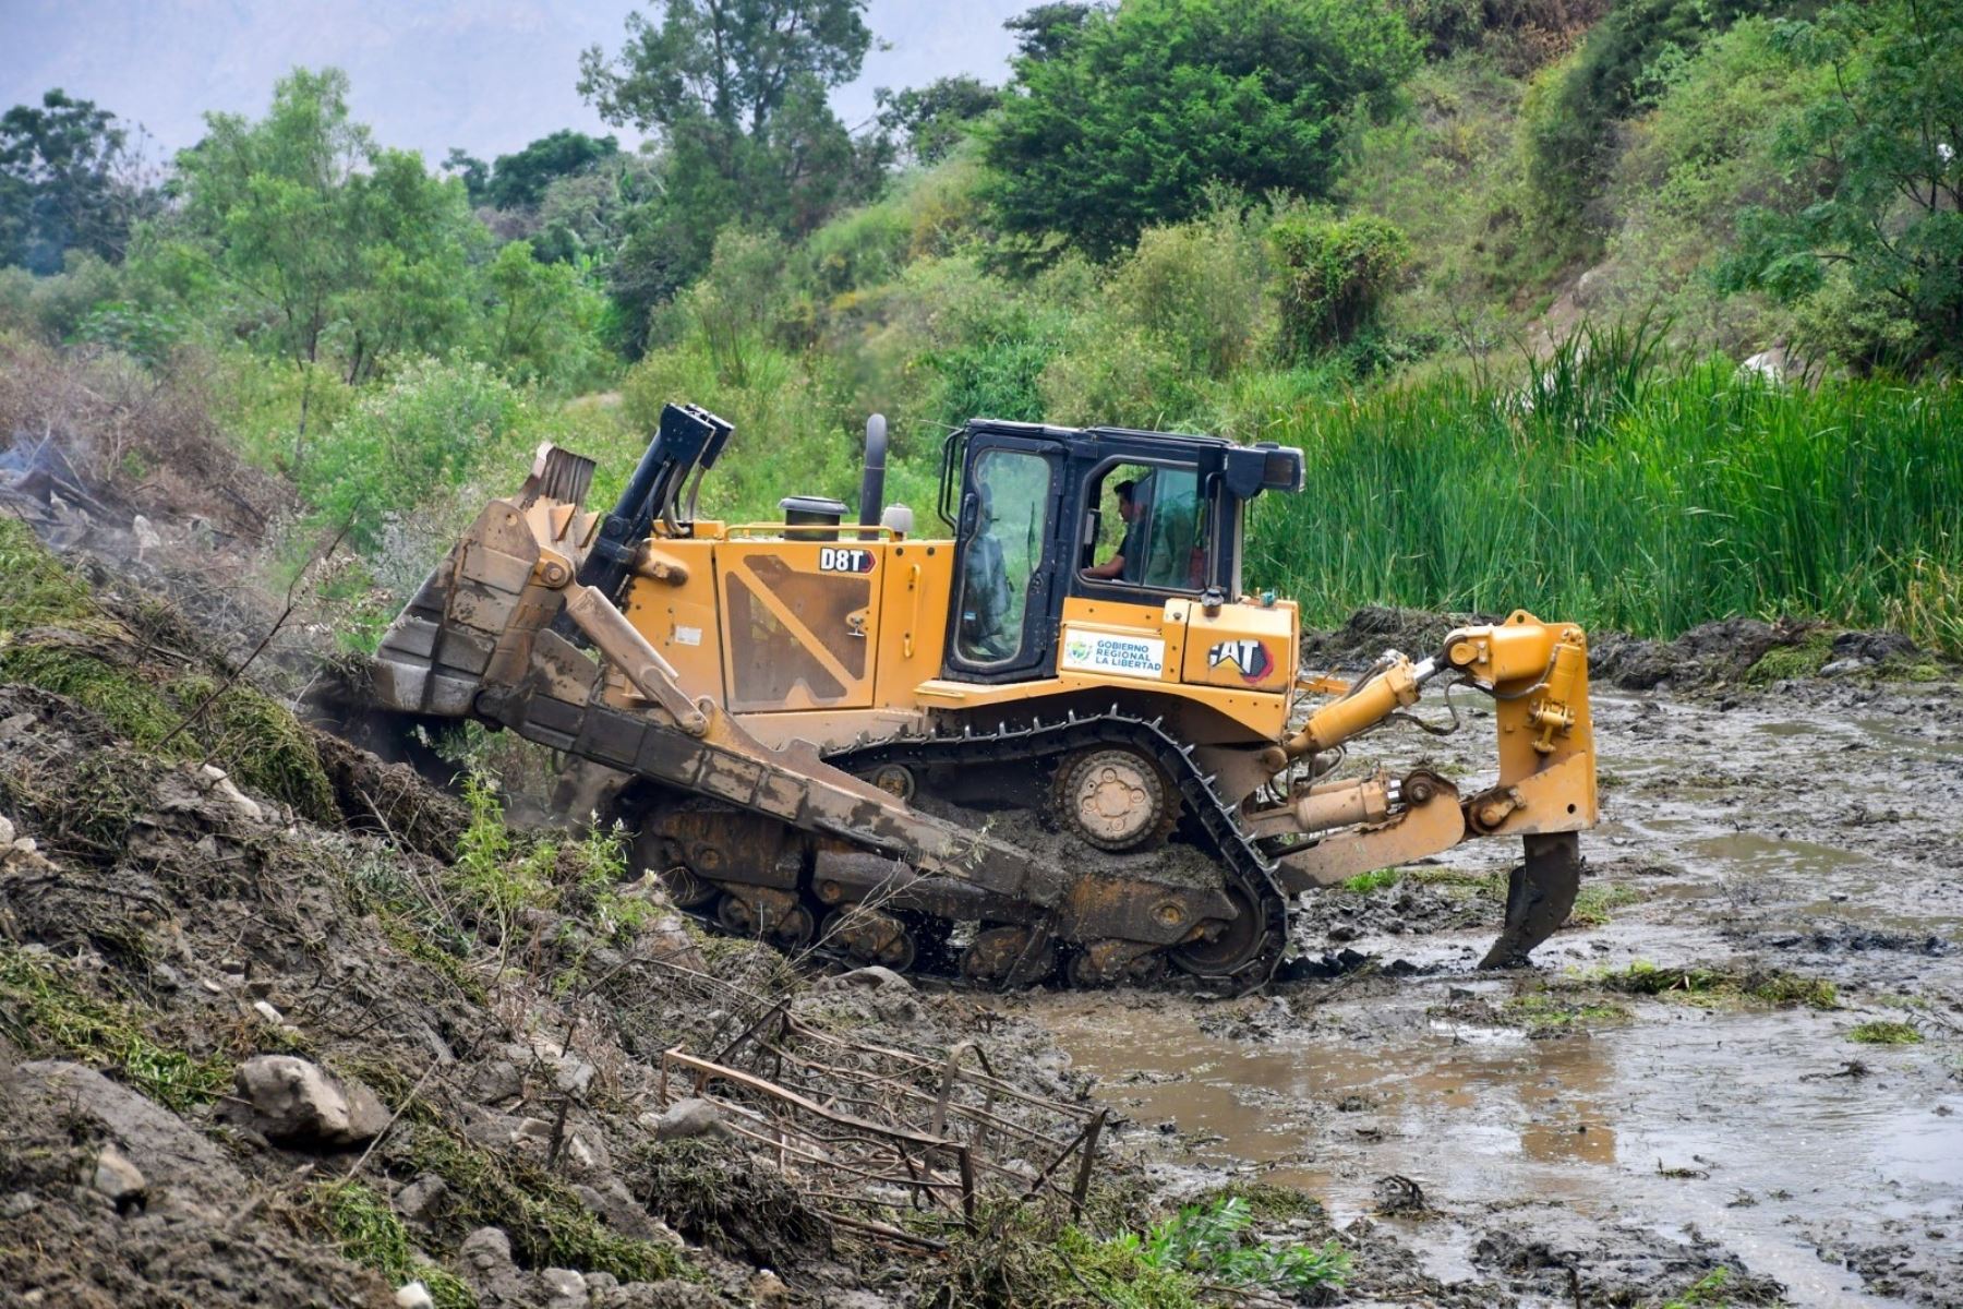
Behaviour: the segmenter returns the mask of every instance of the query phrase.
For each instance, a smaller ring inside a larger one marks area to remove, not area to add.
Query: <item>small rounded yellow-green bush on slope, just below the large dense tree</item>
[[[1356,340],[1376,322],[1411,245],[1382,218],[1286,218],[1272,232],[1282,257],[1282,341],[1307,359]]]

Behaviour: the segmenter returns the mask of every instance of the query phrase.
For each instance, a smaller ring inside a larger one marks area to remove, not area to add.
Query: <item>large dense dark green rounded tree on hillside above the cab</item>
[[[1048,57],[1015,61],[982,128],[1003,228],[1093,257],[1148,224],[1247,194],[1329,188],[1345,122],[1417,65],[1382,0],[1131,0],[1091,10]]]

